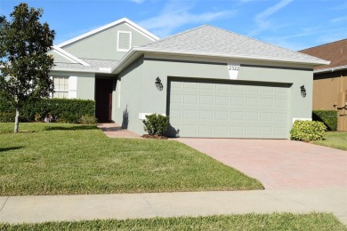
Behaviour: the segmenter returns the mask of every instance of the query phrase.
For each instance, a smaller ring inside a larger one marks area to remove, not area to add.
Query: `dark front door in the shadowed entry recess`
[[[95,117],[98,122],[112,120],[112,88],[113,79],[95,80]]]

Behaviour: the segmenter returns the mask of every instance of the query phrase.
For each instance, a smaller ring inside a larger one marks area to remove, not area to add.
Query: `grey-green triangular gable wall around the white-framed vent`
[[[121,60],[126,52],[117,52],[117,31],[131,31],[132,46],[140,46],[151,42],[148,37],[141,35],[138,31],[123,23],[61,48],[78,58]]]

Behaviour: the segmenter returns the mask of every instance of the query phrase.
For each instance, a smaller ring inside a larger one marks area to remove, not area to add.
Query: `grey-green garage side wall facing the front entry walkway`
[[[142,105],[145,101],[147,89],[143,87],[143,59],[133,62],[131,66],[125,69],[118,78],[116,91],[113,92],[113,120],[139,134],[143,134],[143,123],[139,119],[139,113],[142,111]],[[118,106],[118,97],[120,92],[120,105]],[[149,92],[150,93],[150,92]],[[149,102],[155,103],[155,101]]]

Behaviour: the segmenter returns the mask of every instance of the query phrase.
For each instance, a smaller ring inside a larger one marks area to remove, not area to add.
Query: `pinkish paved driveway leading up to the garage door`
[[[177,140],[259,179],[266,189],[347,188],[343,150],[286,139]]]

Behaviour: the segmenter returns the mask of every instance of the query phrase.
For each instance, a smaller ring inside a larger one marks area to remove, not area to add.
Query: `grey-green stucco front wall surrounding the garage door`
[[[170,59],[170,60],[164,60]],[[181,59],[181,60],[180,60]],[[198,60],[198,61],[197,61]],[[217,62],[217,63],[212,63]],[[256,82],[270,82],[270,83],[285,83],[291,84],[290,87],[290,108],[288,127],[290,128],[293,123],[293,118],[311,119],[312,110],[312,68],[304,66],[295,66],[280,68],[285,64],[276,64],[274,62],[252,62],[241,60],[199,60],[195,59],[182,60],[180,57],[154,57],[147,55],[143,62],[143,81],[141,81],[141,72],[136,80],[134,76],[122,73],[122,97],[125,98],[125,86],[127,83],[140,85],[141,89],[133,89],[131,92],[140,95],[140,102],[138,102],[137,110],[133,110],[132,114],[141,113],[166,113],[166,99],[167,99],[167,78],[174,77],[190,77],[190,78],[206,78],[206,79],[222,79],[230,80],[227,63],[241,63],[238,72],[238,80],[243,81],[256,81]],[[244,65],[244,66],[243,66]],[[245,66],[246,65],[246,66]],[[163,91],[158,91],[155,86],[156,78],[161,79],[164,85]],[[127,80],[129,78],[129,80]],[[304,85],[307,96],[301,96],[300,86]],[[135,85],[133,86],[135,87]],[[130,87],[127,86],[129,89]],[[138,113],[137,113],[138,112]],[[135,131],[139,134],[144,133],[141,120],[138,115],[129,117],[129,130]],[[134,120],[133,120],[134,118]],[[289,136],[289,131],[288,131]]]

